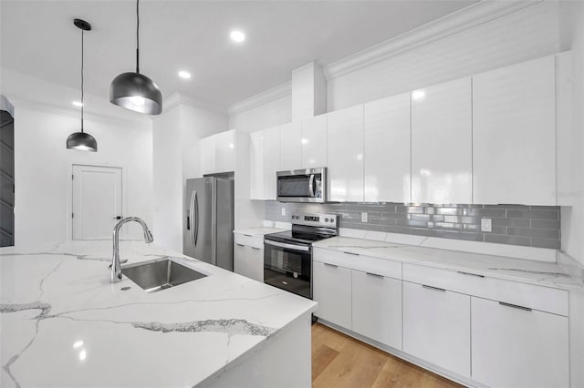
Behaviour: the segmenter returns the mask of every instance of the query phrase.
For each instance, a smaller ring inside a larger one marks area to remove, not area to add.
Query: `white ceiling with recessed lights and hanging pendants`
[[[154,1],[141,2],[141,72],[164,97],[229,107],[290,80],[312,60],[326,66],[422,26],[476,0]],[[0,2],[1,66],[65,87],[79,87],[80,30],[86,92],[109,97],[111,80],[135,68],[135,2]],[[245,31],[244,44],[229,39]],[[177,71],[193,78],[184,81]]]

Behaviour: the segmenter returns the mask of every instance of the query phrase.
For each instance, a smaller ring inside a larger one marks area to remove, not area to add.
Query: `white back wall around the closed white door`
[[[67,114],[18,99],[11,102],[15,105],[16,247],[70,239],[72,164],[123,168],[123,214],[151,225],[150,127],[86,118],[85,130],[98,140],[98,152],[76,151],[67,149],[65,141],[79,130],[77,110]],[[142,236],[138,225],[124,230],[125,237]]]

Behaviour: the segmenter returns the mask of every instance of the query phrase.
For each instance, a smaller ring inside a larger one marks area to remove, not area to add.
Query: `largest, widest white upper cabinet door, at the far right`
[[[546,56],[473,77],[474,203],[556,205],[556,66]]]

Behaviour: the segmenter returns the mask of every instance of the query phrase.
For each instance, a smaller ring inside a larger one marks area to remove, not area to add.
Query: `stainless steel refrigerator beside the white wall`
[[[234,181],[187,179],[183,253],[234,271]]]

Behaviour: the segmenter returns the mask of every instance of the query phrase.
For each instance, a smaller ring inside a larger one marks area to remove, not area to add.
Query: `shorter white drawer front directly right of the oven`
[[[350,268],[351,270],[369,272],[373,275],[381,275],[387,278],[401,280],[401,261],[385,260],[370,256],[341,252],[339,250],[326,250],[315,247],[313,260],[327,262]]]

